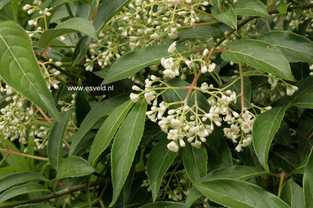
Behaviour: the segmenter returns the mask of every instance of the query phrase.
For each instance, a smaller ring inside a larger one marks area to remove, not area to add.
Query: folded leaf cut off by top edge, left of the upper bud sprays
[[[131,0],[114,0],[114,1],[105,1],[98,11],[101,11],[97,14],[94,25],[97,32],[100,32],[103,26],[122,8],[128,4]]]

